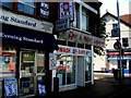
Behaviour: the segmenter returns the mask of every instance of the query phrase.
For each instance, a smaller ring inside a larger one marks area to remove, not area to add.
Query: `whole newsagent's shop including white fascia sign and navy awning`
[[[0,22],[2,23],[0,88],[2,88],[3,78],[15,77],[20,97],[36,95],[37,83],[43,79],[45,79],[48,91],[50,88],[49,52],[58,50],[52,35],[53,25],[4,10],[0,14]]]

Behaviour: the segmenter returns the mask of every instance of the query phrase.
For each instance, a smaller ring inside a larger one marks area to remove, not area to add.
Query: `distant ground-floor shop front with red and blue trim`
[[[120,57],[118,51],[108,51],[107,52],[107,63],[108,63],[108,73],[111,73],[112,69],[118,69],[120,65]],[[121,64],[124,74],[131,73],[131,52],[124,51],[121,57]]]

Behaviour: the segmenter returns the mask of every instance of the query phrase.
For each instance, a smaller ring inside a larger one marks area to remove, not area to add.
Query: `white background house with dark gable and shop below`
[[[130,15],[120,16],[120,35],[122,48],[122,69],[126,74],[131,73],[131,24]],[[106,70],[111,72],[111,69],[118,69],[120,65],[119,50],[116,49],[115,42],[119,38],[117,24],[118,17],[111,13],[105,13],[102,19],[106,20]],[[119,48],[119,47],[118,47]]]

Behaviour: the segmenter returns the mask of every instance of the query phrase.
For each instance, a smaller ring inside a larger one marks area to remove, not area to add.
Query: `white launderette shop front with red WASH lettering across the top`
[[[59,78],[59,91],[74,89],[92,83],[92,54],[91,50],[60,46],[56,56],[56,68],[52,76]]]

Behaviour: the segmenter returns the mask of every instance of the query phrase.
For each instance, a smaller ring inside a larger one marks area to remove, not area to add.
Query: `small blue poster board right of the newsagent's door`
[[[46,87],[44,81],[38,79],[38,95],[46,96]]]

